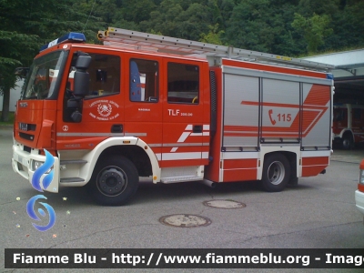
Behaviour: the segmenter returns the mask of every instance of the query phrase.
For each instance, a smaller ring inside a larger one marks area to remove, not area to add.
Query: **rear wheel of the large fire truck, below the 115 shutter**
[[[289,181],[290,165],[287,157],[282,154],[268,155],[264,160],[262,187],[269,192],[283,190]]]

